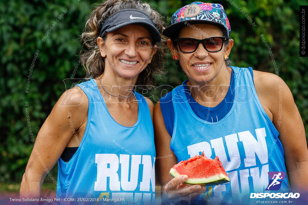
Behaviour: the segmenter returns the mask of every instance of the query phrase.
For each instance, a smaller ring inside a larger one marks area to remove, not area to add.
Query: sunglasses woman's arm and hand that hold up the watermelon
[[[156,170],[160,175],[161,184],[163,186],[161,196],[165,199],[181,199],[187,200],[191,203],[202,192],[205,187],[200,185],[188,186],[183,183],[188,179],[187,175],[180,175],[175,178],[169,174],[173,165],[177,164],[177,158],[170,149],[171,136],[169,135],[164,118],[160,110],[160,101],[154,107],[154,134],[155,134],[155,148],[156,148]]]

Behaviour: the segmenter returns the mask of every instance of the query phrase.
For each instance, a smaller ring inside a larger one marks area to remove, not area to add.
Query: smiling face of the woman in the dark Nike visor
[[[130,24],[108,32],[106,41],[98,37],[102,57],[105,57],[105,71],[123,78],[137,78],[156,52],[152,37],[143,26]]]

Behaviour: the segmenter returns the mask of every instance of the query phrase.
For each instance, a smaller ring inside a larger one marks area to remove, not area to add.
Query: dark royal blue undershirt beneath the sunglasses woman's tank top
[[[253,69],[251,67],[248,68],[249,72],[253,79]],[[202,120],[208,122],[217,122],[221,120],[232,108],[233,100],[234,100],[234,71],[231,72],[230,78],[230,86],[229,85],[221,85],[221,86],[229,86],[228,92],[225,95],[224,100],[222,100],[217,106],[215,107],[206,107],[201,105],[195,101],[195,99],[191,96],[190,90],[187,86],[187,81],[183,82],[183,87],[185,89],[185,94],[188,99],[188,102],[193,109],[193,112],[201,118]],[[216,93],[220,95],[222,93]],[[173,104],[172,104],[172,96],[171,92],[167,93],[164,97],[160,98],[160,109],[163,114],[164,123],[166,129],[170,136],[172,136],[173,126],[174,126],[174,111],[173,111]]]

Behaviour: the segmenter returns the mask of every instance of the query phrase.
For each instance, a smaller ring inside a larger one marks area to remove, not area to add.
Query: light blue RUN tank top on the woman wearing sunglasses
[[[231,180],[208,187],[195,204],[249,204],[258,200],[250,199],[250,193],[290,192],[287,177],[278,191],[264,191],[269,171],[286,173],[284,151],[279,133],[257,97],[249,70],[230,67],[235,73],[234,103],[218,122],[202,120],[193,112],[182,85],[172,90],[175,121],[170,148],[177,161],[204,151],[207,158],[219,157]]]

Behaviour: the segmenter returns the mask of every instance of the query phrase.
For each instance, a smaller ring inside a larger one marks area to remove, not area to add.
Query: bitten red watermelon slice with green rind
[[[187,175],[187,185],[213,186],[230,182],[219,158],[216,156],[214,160],[208,159],[203,152],[201,155],[180,161],[170,169],[169,174],[173,177]]]

